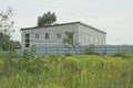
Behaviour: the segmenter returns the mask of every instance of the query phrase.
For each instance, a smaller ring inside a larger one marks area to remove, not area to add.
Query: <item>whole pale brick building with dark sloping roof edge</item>
[[[22,48],[44,45],[63,45],[65,32],[74,33],[76,45],[105,45],[106,33],[81,22],[21,29]]]

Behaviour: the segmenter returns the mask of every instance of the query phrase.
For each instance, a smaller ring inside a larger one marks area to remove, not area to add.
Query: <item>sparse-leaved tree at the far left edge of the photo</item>
[[[11,21],[12,9],[8,8],[6,12],[0,13],[0,48],[3,51],[12,51],[14,47],[13,41],[10,40],[13,32],[13,21]]]

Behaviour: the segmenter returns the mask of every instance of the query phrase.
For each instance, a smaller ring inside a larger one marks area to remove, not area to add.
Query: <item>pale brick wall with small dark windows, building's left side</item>
[[[57,25],[50,28],[40,28],[22,31],[22,48],[24,48],[24,35],[30,34],[30,46],[35,45],[63,45],[64,33],[66,31],[75,32],[74,41],[78,42],[78,24]],[[50,34],[50,38],[45,38],[45,33]],[[61,33],[61,38],[57,37],[57,34]],[[39,34],[39,38],[35,38],[35,34]]]

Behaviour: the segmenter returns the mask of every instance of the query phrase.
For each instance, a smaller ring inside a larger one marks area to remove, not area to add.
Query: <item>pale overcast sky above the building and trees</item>
[[[0,12],[8,7],[13,9],[17,41],[20,29],[37,26],[38,16],[51,11],[57,23],[80,21],[106,32],[106,44],[133,44],[133,0],[0,0]]]

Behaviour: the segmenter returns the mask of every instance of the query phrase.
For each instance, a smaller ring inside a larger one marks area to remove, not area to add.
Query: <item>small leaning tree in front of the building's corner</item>
[[[74,43],[74,33],[75,32],[69,32],[66,31],[64,34],[65,34],[65,37],[63,40],[63,44],[64,46],[69,47],[69,46],[72,46],[74,48],[74,52],[78,54],[76,50],[75,50],[75,43]]]

